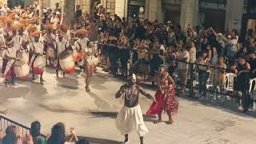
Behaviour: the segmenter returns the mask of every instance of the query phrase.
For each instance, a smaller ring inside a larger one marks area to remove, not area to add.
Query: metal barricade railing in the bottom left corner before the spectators
[[[10,118],[6,118],[2,115],[0,115],[0,126],[1,126],[1,130],[6,130],[6,128],[8,126],[16,126],[18,132],[22,135],[25,134],[30,134],[30,128],[27,126],[24,126],[18,122],[14,122],[13,120],[11,120]],[[41,134],[42,137],[46,138],[45,135]]]

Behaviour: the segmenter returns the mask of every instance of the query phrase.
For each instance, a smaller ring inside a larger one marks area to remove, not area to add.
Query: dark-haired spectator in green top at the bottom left
[[[38,121],[32,122],[30,126],[30,134],[33,138],[34,144],[46,144],[46,139],[42,138],[40,134],[41,124]]]

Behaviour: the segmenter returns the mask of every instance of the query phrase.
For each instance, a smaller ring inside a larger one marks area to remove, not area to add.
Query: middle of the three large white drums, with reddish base
[[[32,67],[33,66],[33,67]],[[46,67],[46,58],[39,55],[33,55],[30,62],[30,70],[33,70],[33,74],[42,74]]]

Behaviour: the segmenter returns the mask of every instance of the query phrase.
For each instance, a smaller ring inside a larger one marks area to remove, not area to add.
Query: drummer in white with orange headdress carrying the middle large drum
[[[28,50],[30,50],[30,54],[33,54],[32,58],[30,59],[30,62],[34,62],[34,59],[40,55],[43,56],[43,54],[45,54],[46,52],[43,51],[43,43],[39,42],[39,38],[40,38],[40,32],[34,32],[32,34],[32,36],[34,37],[34,42],[30,42],[27,45]],[[34,82],[34,70],[32,70],[32,82]],[[42,73],[43,74],[43,73]],[[40,74],[40,83],[42,84],[44,82],[43,78],[42,78],[42,74]]]

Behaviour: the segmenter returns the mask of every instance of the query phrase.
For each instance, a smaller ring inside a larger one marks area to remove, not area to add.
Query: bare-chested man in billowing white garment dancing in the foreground
[[[132,130],[136,130],[140,136],[141,144],[143,144],[143,136],[148,133],[146,125],[143,121],[141,107],[138,104],[138,95],[142,94],[156,102],[155,98],[146,93],[141,86],[137,84],[137,77],[135,74],[129,78],[128,83],[121,86],[120,90],[115,94],[115,98],[122,97],[124,99],[124,106],[118,113],[116,126],[122,135],[125,135],[124,144],[128,143],[128,134]]]

